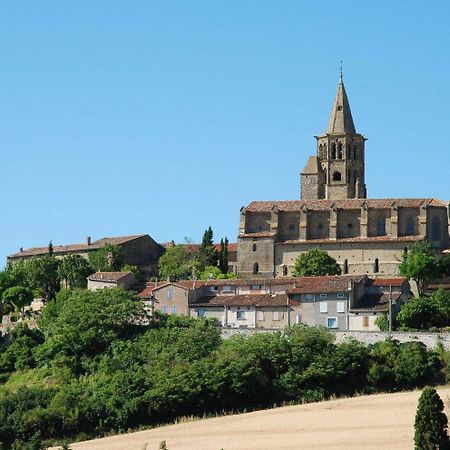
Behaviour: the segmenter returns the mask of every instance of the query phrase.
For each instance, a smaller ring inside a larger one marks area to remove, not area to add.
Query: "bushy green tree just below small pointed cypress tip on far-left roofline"
[[[25,267],[30,286],[38,289],[45,301],[54,299],[60,289],[59,260],[54,256],[44,255],[30,259]]]

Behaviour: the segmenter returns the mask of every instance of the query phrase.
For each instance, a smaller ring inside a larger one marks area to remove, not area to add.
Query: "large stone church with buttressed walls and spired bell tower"
[[[335,258],[343,274],[394,276],[415,241],[429,240],[437,253],[450,246],[448,201],[367,198],[366,138],[356,131],[342,74],[316,140],[317,154],[300,174],[300,200],[241,208],[240,276],[290,276],[296,258],[313,247]]]

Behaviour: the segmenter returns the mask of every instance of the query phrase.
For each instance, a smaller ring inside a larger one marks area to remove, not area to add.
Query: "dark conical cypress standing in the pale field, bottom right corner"
[[[419,398],[414,423],[416,450],[446,450],[450,448],[444,403],[436,389],[426,387]]]

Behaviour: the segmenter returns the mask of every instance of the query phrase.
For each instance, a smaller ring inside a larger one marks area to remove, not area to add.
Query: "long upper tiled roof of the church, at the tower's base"
[[[282,201],[254,201],[246,208],[246,212],[270,212],[273,208],[279,211],[299,211],[306,207],[313,211],[328,211],[337,209],[360,209],[364,205],[367,208],[389,209],[393,206],[399,208],[419,208],[422,205],[446,207],[442,200],[434,198],[388,198],[388,199],[349,199],[349,200],[282,200]]]

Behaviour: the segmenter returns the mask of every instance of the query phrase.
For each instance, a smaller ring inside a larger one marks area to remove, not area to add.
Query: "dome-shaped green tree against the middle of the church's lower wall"
[[[292,274],[295,277],[340,275],[341,268],[327,252],[315,247],[295,260]]]

